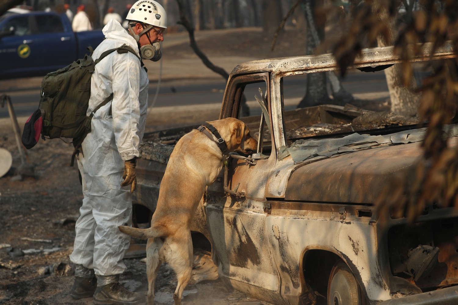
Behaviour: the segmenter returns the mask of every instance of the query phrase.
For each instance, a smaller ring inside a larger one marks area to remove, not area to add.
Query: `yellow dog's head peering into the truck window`
[[[250,135],[250,128],[236,118],[224,118],[207,122],[223,137],[229,151],[251,154],[257,149],[257,141]]]

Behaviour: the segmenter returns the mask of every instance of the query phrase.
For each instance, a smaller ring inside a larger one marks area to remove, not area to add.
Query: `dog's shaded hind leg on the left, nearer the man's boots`
[[[148,278],[147,304],[154,305],[154,284],[158,276],[159,267],[164,262],[162,246],[164,242],[160,238],[148,238],[146,244],[146,273]]]

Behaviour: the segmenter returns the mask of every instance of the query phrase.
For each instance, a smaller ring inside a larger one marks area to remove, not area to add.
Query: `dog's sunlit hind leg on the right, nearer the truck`
[[[191,279],[193,255],[191,231],[177,235],[169,236],[165,241],[168,247],[165,249],[164,245],[164,256],[178,280],[178,285],[173,294],[175,305],[181,305],[183,290]]]

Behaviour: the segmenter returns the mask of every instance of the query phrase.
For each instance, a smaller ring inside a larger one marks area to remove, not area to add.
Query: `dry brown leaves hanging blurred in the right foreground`
[[[383,7],[384,10],[376,9]],[[405,86],[409,86],[413,77],[410,59],[420,54],[422,43],[432,43],[435,52],[451,40],[458,50],[458,1],[421,0],[418,10],[409,11],[409,7],[402,20],[395,23],[399,32],[392,38],[388,23],[399,17],[398,7],[397,0],[367,0],[354,5],[349,32],[333,51],[342,71],[353,64],[363,45],[372,46],[377,36],[382,36],[387,44],[394,39],[395,53],[403,60]],[[420,122],[427,121],[428,130],[416,180],[407,188],[407,177],[398,177],[376,203],[379,209],[390,209],[394,217],[408,217],[410,221],[433,204],[458,208],[458,150],[447,147],[442,132],[444,124],[451,123],[456,114],[458,60],[435,60],[428,69],[433,73],[419,89],[422,92]]]

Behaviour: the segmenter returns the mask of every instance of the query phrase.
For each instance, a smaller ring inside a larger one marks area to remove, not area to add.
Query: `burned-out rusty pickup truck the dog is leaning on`
[[[447,44],[432,59],[455,56]],[[369,48],[355,67],[396,63],[393,48]],[[396,175],[414,177],[425,128],[351,105],[285,106],[290,78],[336,69],[330,54],[234,68],[219,118],[247,123],[258,148],[231,155],[207,187],[194,246],[211,251],[220,278],[273,304],[458,304],[457,211],[431,205],[408,225],[375,207]],[[240,117],[253,88],[258,115]],[[196,127],[145,134],[134,225],[154,212],[174,143]],[[458,125],[444,134],[456,146]]]

